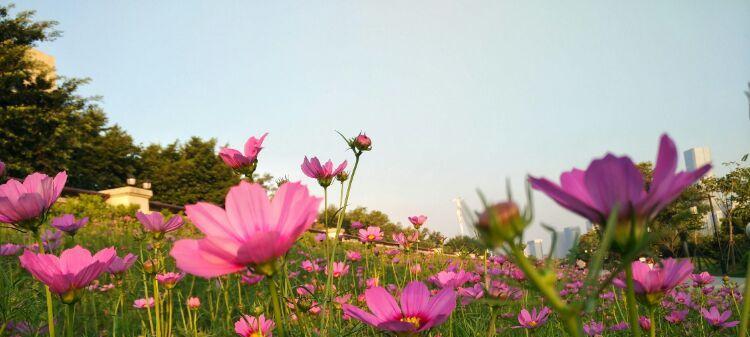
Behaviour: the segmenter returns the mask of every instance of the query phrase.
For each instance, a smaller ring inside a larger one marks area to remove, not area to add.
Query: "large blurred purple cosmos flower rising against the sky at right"
[[[704,165],[693,172],[676,172],[677,148],[665,134],[661,137],[653,181],[648,189],[633,161],[613,154],[592,161],[585,171],[573,169],[563,173],[560,185],[544,178],[529,177],[529,181],[532,188],[595,224],[606,224],[610,213],[617,207],[615,240],[624,248],[645,233],[645,222],[653,219],[710,169],[711,165]],[[631,221],[636,224],[634,238],[630,235]]]

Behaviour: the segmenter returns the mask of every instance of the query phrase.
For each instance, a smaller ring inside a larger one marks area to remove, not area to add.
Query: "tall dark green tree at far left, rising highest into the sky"
[[[138,148],[107,126],[92,98],[77,94],[86,79],[63,78],[32,57],[40,42],[59,36],[54,21],[33,11],[11,15],[0,6],[0,160],[11,176],[67,170],[69,185],[102,189],[135,170]]]

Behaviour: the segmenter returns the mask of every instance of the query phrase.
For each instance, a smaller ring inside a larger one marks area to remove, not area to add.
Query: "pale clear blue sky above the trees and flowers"
[[[302,179],[304,155],[351,159],[352,201],[455,234],[451,199],[557,177],[605,151],[653,160],[668,132],[716,161],[750,151],[750,3],[737,1],[24,1],[60,21],[41,49],[90,77],[137,142],[241,146]],[[720,171],[721,172],[721,171]],[[322,194],[322,193],[321,193]],[[541,194],[537,219],[582,225]],[[533,228],[528,239],[545,238]]]

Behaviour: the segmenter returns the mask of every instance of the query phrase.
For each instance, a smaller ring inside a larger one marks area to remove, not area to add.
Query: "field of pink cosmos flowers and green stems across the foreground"
[[[611,154],[559,184],[529,178],[597,225],[590,261],[525,256],[532,207],[513,200],[471,212],[483,255],[420,247],[424,215],[392,237],[345,226],[373,141],[343,137],[352,158],[305,157],[309,181],[267,191],[252,181],[266,136],[222,149],[243,180],[223,205],[184,214],[70,211],[65,172],[4,182],[0,336],[747,336],[744,286],[689,259],[639,259],[649,221],[710,169],[678,172],[666,135],[648,188],[630,158]],[[311,232],[316,223],[334,235]]]

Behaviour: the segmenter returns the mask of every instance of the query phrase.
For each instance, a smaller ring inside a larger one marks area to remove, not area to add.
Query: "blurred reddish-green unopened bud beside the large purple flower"
[[[521,235],[526,222],[521,217],[518,206],[512,201],[506,201],[487,208],[479,216],[475,227],[485,244],[496,248]]]

